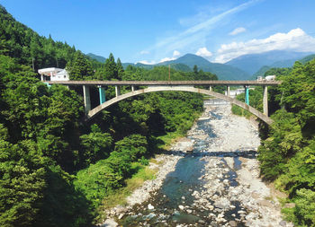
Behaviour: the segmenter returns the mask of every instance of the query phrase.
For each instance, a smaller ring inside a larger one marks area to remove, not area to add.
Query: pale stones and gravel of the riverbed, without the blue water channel
[[[203,122],[202,127],[199,122]],[[112,219],[103,226],[116,226],[113,218],[120,220],[122,216],[134,215],[133,205],[142,204],[156,195],[166,175],[174,171],[176,163],[193,149],[194,153],[196,149],[202,153],[200,160],[205,162],[200,177],[204,184],[200,189],[189,190],[193,203],[185,203],[183,196],[179,210],[161,209],[149,215],[138,213],[138,218],[143,216],[146,220],[139,226],[149,226],[147,221],[151,218],[156,223],[171,226],[293,226],[284,222],[279,202],[259,179],[259,162],[255,152],[259,144],[255,125],[246,118],[232,115],[229,105],[207,107],[187,137],[171,147],[170,154],[157,155],[157,162],[162,164],[150,164],[150,168],[158,169],[157,179],[146,181],[134,191],[127,198],[127,207],[118,206],[108,211]],[[143,212],[151,212],[155,208],[151,204],[140,206]],[[172,223],[171,218],[178,211],[194,215],[198,223]],[[206,216],[201,211],[205,211]]]

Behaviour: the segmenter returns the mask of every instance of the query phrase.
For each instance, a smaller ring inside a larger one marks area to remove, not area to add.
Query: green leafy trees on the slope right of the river
[[[284,206],[289,220],[297,226],[315,226],[315,59],[266,74],[275,74],[283,83],[269,88],[269,113],[275,123],[269,129],[260,127],[261,174],[289,195],[284,202],[295,204]],[[262,90],[250,91],[249,96],[251,105],[262,110]],[[244,95],[238,99],[244,100]]]

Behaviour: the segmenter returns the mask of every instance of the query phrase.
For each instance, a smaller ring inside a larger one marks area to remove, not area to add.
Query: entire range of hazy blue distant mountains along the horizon
[[[105,61],[105,57],[87,54],[100,62]],[[304,58],[302,58],[304,57]],[[300,60],[306,62],[315,55],[306,52],[294,52],[284,50],[273,50],[261,54],[252,54],[236,57],[226,64],[211,63],[203,57],[193,54],[186,54],[175,60],[161,62],[156,65],[146,65],[142,63],[122,63],[126,68],[128,65],[151,69],[158,65],[171,65],[172,68],[184,72],[193,71],[193,66],[197,65],[198,69],[204,72],[216,74],[220,80],[248,80],[255,79],[258,75],[263,75],[272,67],[291,67],[295,61]]]

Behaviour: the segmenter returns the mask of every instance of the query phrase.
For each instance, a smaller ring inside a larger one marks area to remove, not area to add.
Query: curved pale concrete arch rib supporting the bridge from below
[[[271,125],[274,122],[271,118],[268,118],[262,112],[258,111],[257,109],[247,105],[246,103],[244,103],[240,100],[230,98],[229,96],[220,94],[218,92],[212,92],[212,91],[201,89],[201,88],[195,88],[193,86],[148,86],[148,88],[145,88],[145,89],[139,89],[137,91],[121,94],[115,98],[112,98],[111,100],[107,100],[107,101],[103,102],[102,105],[99,105],[99,106],[95,107],[94,109],[91,109],[87,114],[87,118],[88,119],[94,118],[94,116],[97,115],[99,112],[101,112],[103,109],[106,109],[106,108],[112,106],[113,104],[115,104],[121,100],[125,100],[125,99],[128,99],[130,97],[137,96],[139,94],[149,93],[149,92],[175,92],[175,91],[177,91],[177,92],[195,92],[195,93],[210,95],[210,96],[213,96],[213,97],[221,99],[221,100],[227,100],[230,103],[235,104],[242,109],[247,109],[250,113],[257,116],[257,118],[262,119],[268,125]]]

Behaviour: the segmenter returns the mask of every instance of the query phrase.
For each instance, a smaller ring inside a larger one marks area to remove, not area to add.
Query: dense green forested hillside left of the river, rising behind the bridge
[[[86,122],[82,91],[46,86],[38,68],[66,66],[76,80],[166,80],[168,68],[123,70],[112,54],[96,63],[67,43],[40,37],[3,7],[0,11],[0,225],[89,226],[107,197],[145,170],[163,136],[184,135],[192,126],[202,97],[145,94]],[[197,68],[171,69],[171,79],[217,77]],[[97,105],[97,88],[91,96]],[[112,96],[108,87],[106,97]]]

